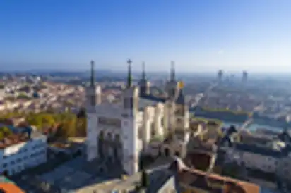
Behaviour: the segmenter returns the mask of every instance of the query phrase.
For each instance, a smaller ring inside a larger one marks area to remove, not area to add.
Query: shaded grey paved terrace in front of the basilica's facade
[[[49,173],[27,175],[26,178],[15,181],[25,191],[59,192],[63,189],[64,192],[75,192],[82,187],[97,185],[112,179],[108,175],[98,173],[97,166],[96,162],[90,163],[83,157],[78,157],[54,168]]]

